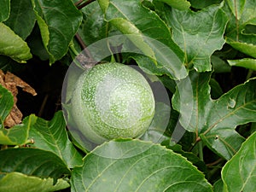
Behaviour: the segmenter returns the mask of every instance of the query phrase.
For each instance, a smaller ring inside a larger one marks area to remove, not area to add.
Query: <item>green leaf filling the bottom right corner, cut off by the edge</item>
[[[239,151],[222,170],[224,191],[255,191],[256,178],[256,132],[242,143]]]

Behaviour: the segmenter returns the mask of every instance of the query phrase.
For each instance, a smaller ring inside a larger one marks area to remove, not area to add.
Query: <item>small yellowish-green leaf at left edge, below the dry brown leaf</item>
[[[37,117],[31,114],[22,121],[22,124],[15,125],[10,129],[0,129],[0,144],[23,145],[30,143],[28,132],[36,120]]]

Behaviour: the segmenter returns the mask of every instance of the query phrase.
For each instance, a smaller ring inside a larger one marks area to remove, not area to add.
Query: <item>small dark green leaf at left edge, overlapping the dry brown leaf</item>
[[[6,119],[14,106],[14,97],[0,84],[0,130],[3,128],[3,121]]]

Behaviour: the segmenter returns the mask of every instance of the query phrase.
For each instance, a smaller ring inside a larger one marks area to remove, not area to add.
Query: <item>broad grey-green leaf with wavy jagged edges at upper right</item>
[[[174,41],[185,52],[186,64],[199,72],[211,71],[210,57],[225,43],[223,35],[228,18],[221,7],[222,4],[212,5],[198,12],[166,8]]]

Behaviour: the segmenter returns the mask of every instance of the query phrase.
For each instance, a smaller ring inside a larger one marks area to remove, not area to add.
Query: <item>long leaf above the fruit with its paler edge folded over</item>
[[[145,8],[137,0],[98,2],[105,20],[119,32],[130,34],[131,42],[143,51],[143,55],[153,59],[154,65],[157,62],[157,67],[165,69],[166,74],[173,79],[183,79],[187,76],[183,66],[183,52],[173,42],[169,28],[159,15]]]

